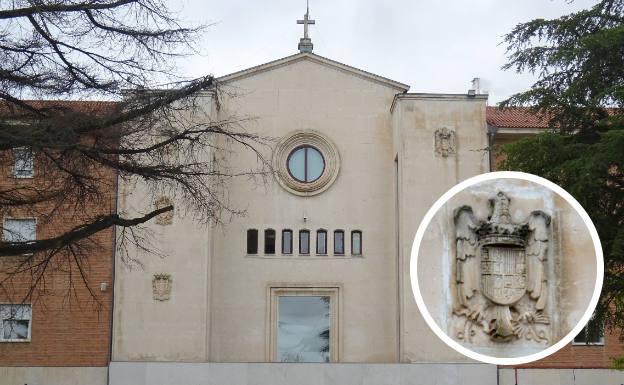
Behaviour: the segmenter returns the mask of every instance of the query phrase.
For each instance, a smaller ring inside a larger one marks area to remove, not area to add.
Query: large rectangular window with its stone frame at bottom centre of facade
[[[338,288],[271,288],[271,360],[338,361]]]

